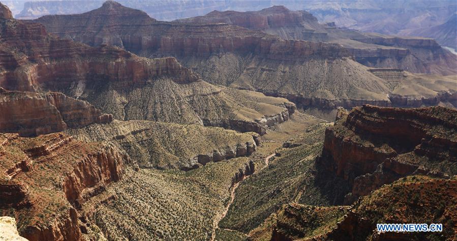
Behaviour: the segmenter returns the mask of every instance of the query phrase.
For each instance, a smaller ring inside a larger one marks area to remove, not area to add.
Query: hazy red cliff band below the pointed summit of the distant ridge
[[[116,14],[111,17],[109,13],[113,11]],[[108,1],[87,13],[44,16],[34,22],[42,23],[50,33],[61,37],[91,46],[113,43],[142,56],[207,57],[220,52],[255,53],[280,60],[310,55],[348,56],[338,44],[281,40],[229,24],[179,24],[146,16],[142,11]],[[126,19],[130,20],[125,22]]]

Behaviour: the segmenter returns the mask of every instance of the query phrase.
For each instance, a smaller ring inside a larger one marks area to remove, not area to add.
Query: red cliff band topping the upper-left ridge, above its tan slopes
[[[75,82],[106,79],[123,87],[163,75],[178,83],[198,80],[172,57],[145,59],[105,45],[92,48],[50,36],[38,23],[1,21],[0,66],[5,71],[0,73],[0,87],[6,89],[68,89]]]

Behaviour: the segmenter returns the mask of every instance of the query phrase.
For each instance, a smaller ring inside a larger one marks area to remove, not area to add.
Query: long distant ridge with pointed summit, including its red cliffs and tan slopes
[[[170,23],[151,18],[128,26],[123,24],[125,18],[118,18],[115,25],[86,21],[104,18],[113,9],[131,14],[130,18],[138,15],[143,19],[145,15],[106,2],[88,13],[46,16],[36,21],[52,33],[89,45],[110,43],[115,38],[120,42],[114,44],[142,56],[176,56],[210,83],[284,97],[306,108],[392,105],[386,81],[345,58],[352,50],[339,44],[283,40],[228,24]],[[107,22],[111,20],[107,18]],[[390,54],[388,51],[380,54]],[[453,85],[447,89],[453,90]]]

